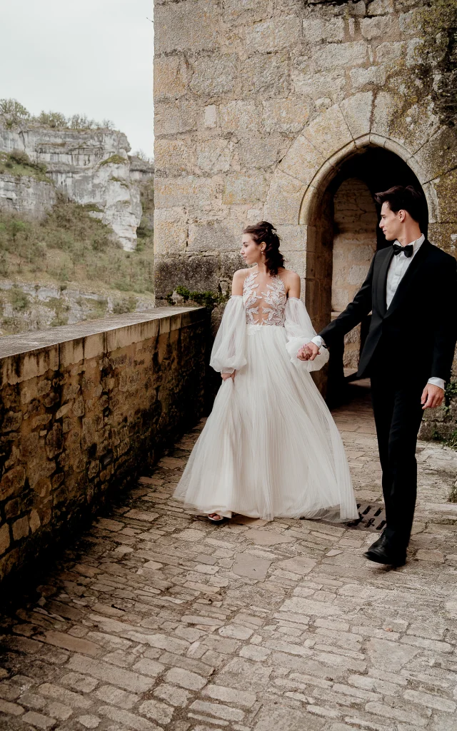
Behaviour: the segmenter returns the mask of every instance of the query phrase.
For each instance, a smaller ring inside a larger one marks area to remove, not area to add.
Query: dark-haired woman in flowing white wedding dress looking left
[[[341,437],[309,373],[328,351],[307,360],[316,333],[300,278],[267,221],[244,230],[241,256],[249,268],[233,276],[211,353],[222,385],[175,498],[214,523],[233,513],[354,520]]]

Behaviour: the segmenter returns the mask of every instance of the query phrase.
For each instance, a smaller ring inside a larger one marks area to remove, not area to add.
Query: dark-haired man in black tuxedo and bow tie
[[[358,377],[371,376],[386,526],[365,556],[401,566],[415,510],[420,421],[424,409],[442,404],[456,346],[457,262],[421,232],[424,204],[412,186],[374,198],[393,246],[377,251],[354,300],[298,357],[314,360],[320,346],[331,349],[372,311]]]

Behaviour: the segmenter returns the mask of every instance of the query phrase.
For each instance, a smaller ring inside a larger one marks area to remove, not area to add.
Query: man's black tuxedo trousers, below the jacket
[[[377,363],[371,371],[371,401],[376,423],[382,492],[385,502],[385,537],[390,548],[407,548],[418,488],[415,458],[420,421],[420,397],[427,376],[412,370],[392,372]]]

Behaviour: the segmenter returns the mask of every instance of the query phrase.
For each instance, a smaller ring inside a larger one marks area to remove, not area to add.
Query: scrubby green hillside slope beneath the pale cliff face
[[[0,270],[13,281],[152,293],[152,235],[141,241],[140,251],[124,251],[88,207],[58,200],[41,222],[0,213]]]

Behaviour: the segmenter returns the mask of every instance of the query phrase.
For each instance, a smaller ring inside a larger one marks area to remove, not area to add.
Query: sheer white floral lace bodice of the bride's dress
[[[272,276],[265,285],[265,292],[258,292],[259,273],[247,274],[243,284],[243,302],[248,325],[276,325],[284,327],[287,303],[284,282]]]

